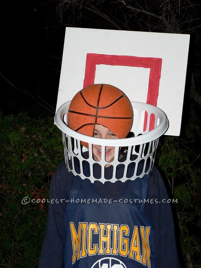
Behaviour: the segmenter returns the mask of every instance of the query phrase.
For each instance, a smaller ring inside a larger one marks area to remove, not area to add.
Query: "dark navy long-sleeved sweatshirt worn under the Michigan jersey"
[[[98,165],[98,164],[97,164]],[[110,177],[111,168],[106,169],[106,176]],[[119,173],[122,172],[120,167]],[[97,174],[98,166],[97,166]],[[65,211],[72,185],[73,174],[66,169],[62,162],[53,175],[50,185],[49,211],[40,256],[39,268],[63,268],[64,248],[66,241]],[[97,175],[98,176],[98,175]],[[121,176],[121,174],[120,174]],[[102,184],[98,180],[94,183],[96,192],[106,199],[116,199],[121,196],[127,181]],[[156,268],[179,268],[175,243],[174,223],[168,194],[158,170],[153,167],[148,175],[147,200],[144,213],[152,222],[155,233]],[[151,202],[152,200],[152,202]],[[155,201],[156,200],[156,201]]]

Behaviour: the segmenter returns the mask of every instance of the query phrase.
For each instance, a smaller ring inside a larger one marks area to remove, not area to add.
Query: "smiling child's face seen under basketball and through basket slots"
[[[119,139],[110,129],[102,125],[95,125],[94,137],[101,139]],[[101,146],[92,144],[93,157],[95,161],[101,160]],[[115,147],[105,147],[105,161],[110,163],[114,160]]]

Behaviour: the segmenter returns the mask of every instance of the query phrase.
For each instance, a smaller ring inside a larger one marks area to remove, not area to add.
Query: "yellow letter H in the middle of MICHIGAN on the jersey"
[[[104,254],[103,242],[106,242],[106,245],[107,245],[105,254],[110,254],[110,230],[111,230],[111,224],[106,224],[106,229],[107,229],[107,235],[106,236],[103,235],[103,232],[105,230],[105,224],[104,223],[99,224],[99,229],[100,229],[100,238],[99,238],[98,254]]]

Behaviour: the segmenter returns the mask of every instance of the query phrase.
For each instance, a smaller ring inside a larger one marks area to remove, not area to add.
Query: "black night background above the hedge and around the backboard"
[[[186,106],[184,111],[189,112],[193,108],[196,113],[200,112],[200,6],[190,5],[182,9],[182,3],[187,1],[181,2],[179,6],[181,21],[176,19],[170,21],[173,27],[167,30],[163,23],[156,21],[155,17],[136,12],[131,14],[131,10],[125,10],[124,5],[120,3],[122,1],[110,2],[75,0],[3,2],[0,75],[2,93],[0,110],[3,114],[27,111],[32,117],[54,116],[67,26],[190,33],[187,102],[184,102]],[[132,3],[132,1],[128,2]],[[161,5],[159,3],[161,1],[155,0],[150,8],[153,13],[161,15],[161,6],[165,2]],[[178,9],[175,3],[172,2],[172,8]],[[134,3],[133,6],[135,5],[141,7],[140,2]],[[172,13],[168,15],[172,17]],[[192,72],[196,92],[191,90],[190,94]],[[193,107],[189,103],[189,98],[193,99]]]

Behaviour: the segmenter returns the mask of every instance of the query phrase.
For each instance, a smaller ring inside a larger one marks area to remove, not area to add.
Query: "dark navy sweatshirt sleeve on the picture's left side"
[[[72,174],[62,162],[55,171],[50,184],[49,209],[46,232],[40,255],[39,268],[63,268],[65,246],[65,200],[68,200]]]

